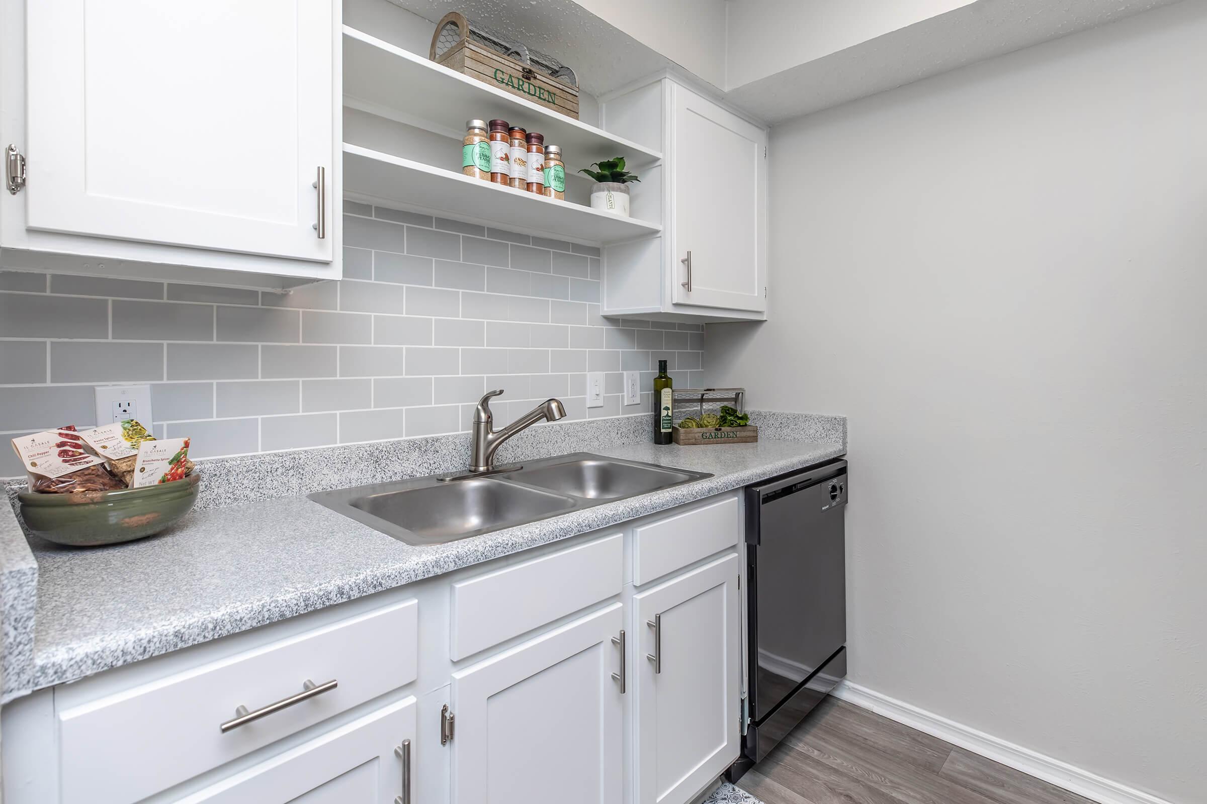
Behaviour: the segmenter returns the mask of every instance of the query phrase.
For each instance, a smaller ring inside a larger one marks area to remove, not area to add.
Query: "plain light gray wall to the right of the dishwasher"
[[[1194,0],[776,127],[770,321],[710,325],[706,365],[850,417],[852,681],[1180,804],[1207,779],[1205,42]]]

